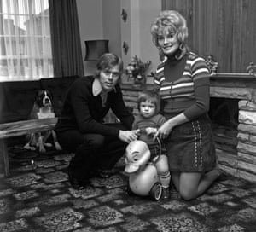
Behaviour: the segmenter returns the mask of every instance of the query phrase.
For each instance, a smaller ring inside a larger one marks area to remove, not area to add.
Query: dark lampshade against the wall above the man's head
[[[85,40],[84,43],[84,61],[98,61],[104,53],[108,53],[108,39]]]

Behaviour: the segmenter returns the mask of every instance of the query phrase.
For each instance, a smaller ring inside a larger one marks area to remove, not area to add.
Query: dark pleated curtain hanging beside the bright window
[[[76,0],[49,0],[55,77],[84,75]]]

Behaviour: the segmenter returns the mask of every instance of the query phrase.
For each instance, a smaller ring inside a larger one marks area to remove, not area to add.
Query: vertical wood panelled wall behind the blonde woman
[[[189,47],[218,61],[218,72],[246,73],[256,64],[255,0],[162,0],[162,9],[176,9],[186,18]]]

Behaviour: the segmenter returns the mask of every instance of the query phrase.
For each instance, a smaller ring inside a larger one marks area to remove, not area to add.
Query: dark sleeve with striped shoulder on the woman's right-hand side
[[[205,60],[199,56],[189,57],[194,83],[195,103],[184,111],[188,119],[196,119],[209,110],[210,75]]]

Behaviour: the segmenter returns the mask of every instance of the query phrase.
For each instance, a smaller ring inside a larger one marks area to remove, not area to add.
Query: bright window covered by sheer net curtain
[[[0,1],[0,81],[53,77],[48,0]]]

